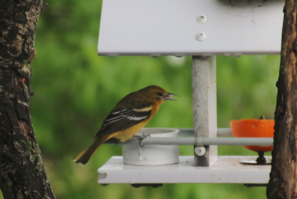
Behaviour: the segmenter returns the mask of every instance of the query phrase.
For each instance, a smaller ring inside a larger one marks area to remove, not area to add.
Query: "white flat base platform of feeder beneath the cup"
[[[266,156],[271,160],[271,156]],[[271,165],[243,165],[241,160],[257,156],[218,156],[210,167],[194,167],[193,156],[180,156],[179,163],[162,166],[123,164],[122,156],[113,156],[98,169],[98,183],[243,183],[267,184]]]

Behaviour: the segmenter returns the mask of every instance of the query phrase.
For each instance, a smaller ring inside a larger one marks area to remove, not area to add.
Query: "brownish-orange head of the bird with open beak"
[[[141,89],[143,92],[147,93],[147,97],[153,99],[156,103],[164,103],[166,100],[175,100],[171,95],[175,95],[173,93],[168,93],[165,89],[159,86],[148,86]]]

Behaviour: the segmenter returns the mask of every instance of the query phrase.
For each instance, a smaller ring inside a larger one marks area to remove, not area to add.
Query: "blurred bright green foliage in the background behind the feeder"
[[[44,1],[46,2],[46,1]],[[124,95],[148,85],[176,93],[147,127],[192,128],[192,58],[97,55],[101,0],[51,0],[37,27],[31,114],[43,161],[57,198],[266,198],[265,187],[242,184],[164,184],[133,188],[97,184],[97,169],[121,147],[103,145],[88,164],[72,157],[87,147]],[[230,120],[274,118],[279,56],[217,56],[218,127]],[[181,146],[181,155],[193,155]],[[256,155],[218,147],[219,155]],[[269,154],[268,154],[269,155]],[[199,176],[197,176],[199,177]],[[214,191],[215,190],[215,191]],[[1,196],[0,196],[1,198]]]

